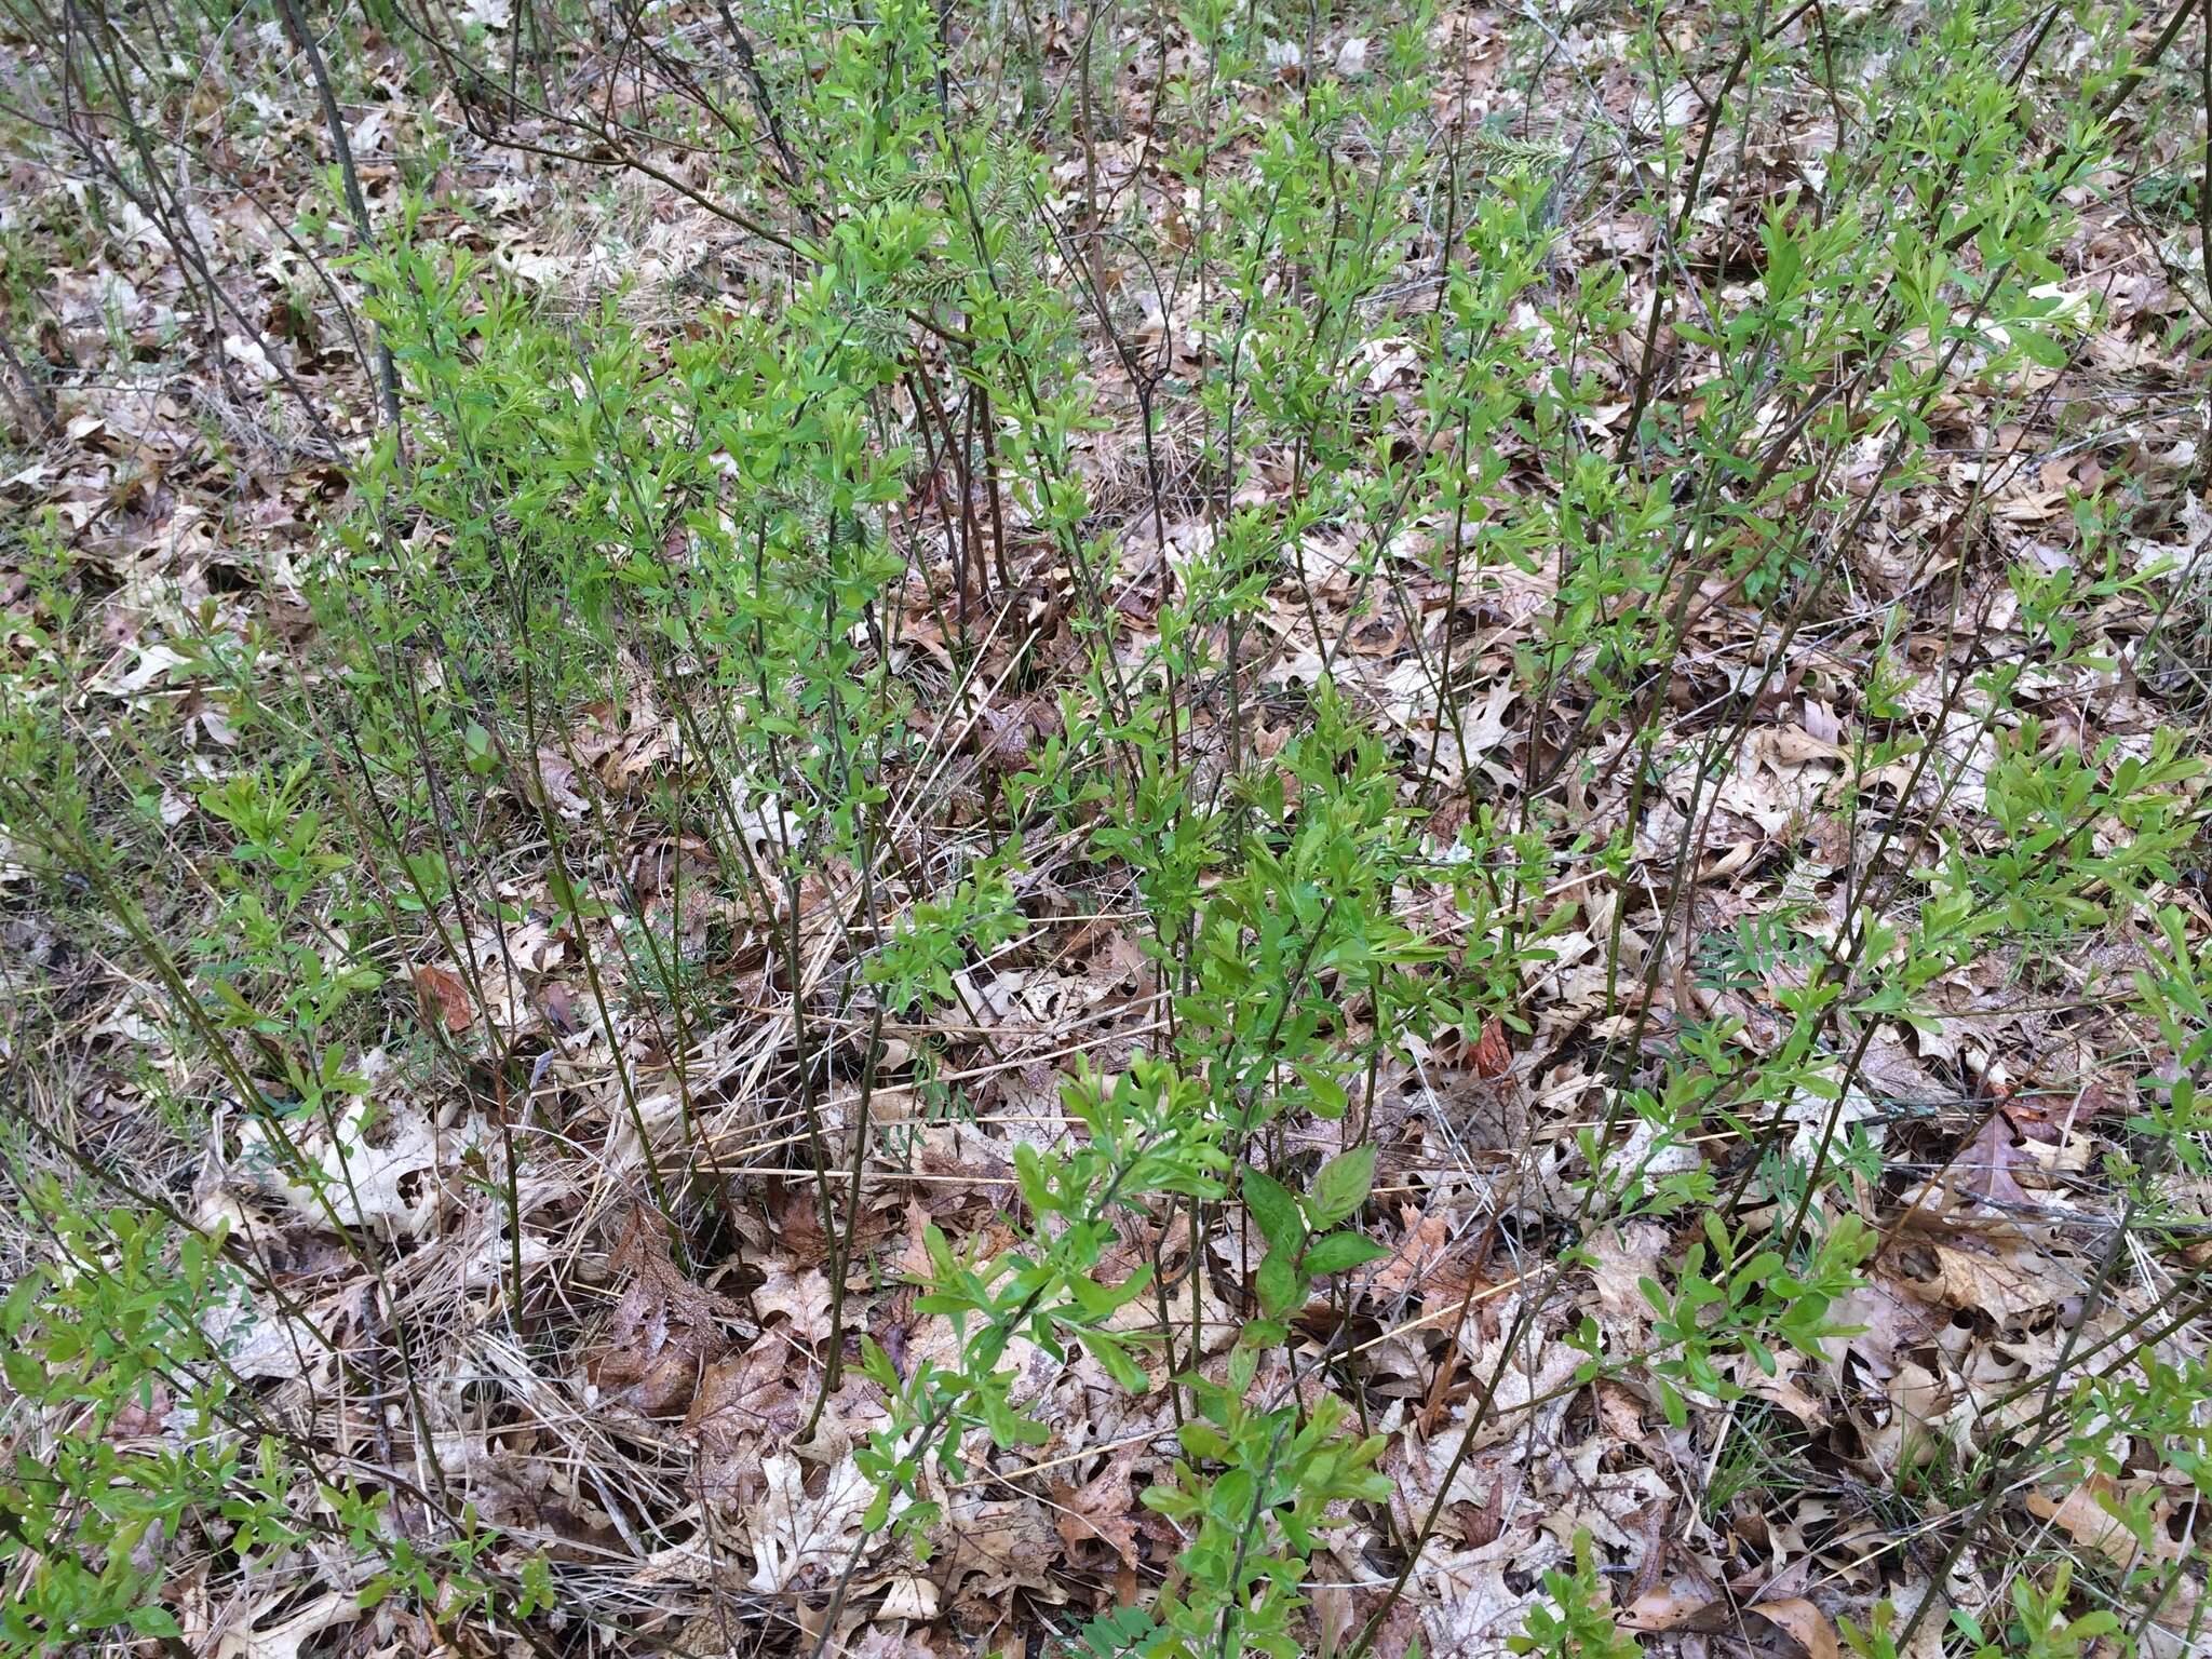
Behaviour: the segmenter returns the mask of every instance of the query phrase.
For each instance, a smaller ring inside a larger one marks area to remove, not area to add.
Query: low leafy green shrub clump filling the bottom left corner
[[[334,1484],[265,1413],[232,1363],[265,1318],[263,1298],[228,1256],[223,1228],[97,1208],[49,1175],[18,1186],[51,1254],[0,1301],[15,1429],[0,1471],[0,1562],[11,1575],[0,1655],[173,1641],[173,1566],[212,1544],[248,1571],[279,1571],[316,1533],[349,1544],[363,1606],[403,1595],[449,1624],[493,1628],[551,1606],[544,1557],[524,1557],[467,1513],[422,1537],[394,1528],[385,1493]],[[290,1321],[285,1338],[327,1343],[310,1321]],[[305,1489],[316,1491],[307,1511]]]

